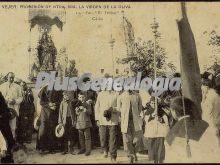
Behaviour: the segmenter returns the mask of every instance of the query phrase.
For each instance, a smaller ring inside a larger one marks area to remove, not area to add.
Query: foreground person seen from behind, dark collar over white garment
[[[193,160],[204,162],[201,155],[207,151],[202,150],[201,145],[204,143],[201,143],[201,137],[207,130],[208,123],[198,118],[199,111],[188,98],[182,96],[173,98],[170,110],[176,123],[166,136],[168,145],[165,162],[186,163]],[[204,146],[203,149],[205,148],[207,147]]]

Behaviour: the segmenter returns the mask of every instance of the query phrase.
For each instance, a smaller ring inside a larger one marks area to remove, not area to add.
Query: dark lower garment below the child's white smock
[[[155,163],[163,163],[165,159],[164,137],[148,138],[149,159]]]

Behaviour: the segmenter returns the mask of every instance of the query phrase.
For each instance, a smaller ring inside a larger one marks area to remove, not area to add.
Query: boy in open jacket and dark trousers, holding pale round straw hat
[[[65,130],[63,135],[64,152],[62,154],[65,155],[69,152],[70,154],[75,155],[74,145],[77,141],[76,113],[67,91],[63,92],[58,123],[62,124]]]

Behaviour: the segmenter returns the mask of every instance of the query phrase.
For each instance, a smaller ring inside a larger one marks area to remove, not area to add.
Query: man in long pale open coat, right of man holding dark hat
[[[137,161],[137,147],[141,140],[143,121],[140,117],[142,101],[138,93],[124,91],[117,101],[117,109],[121,112],[121,131],[125,140],[130,163]]]

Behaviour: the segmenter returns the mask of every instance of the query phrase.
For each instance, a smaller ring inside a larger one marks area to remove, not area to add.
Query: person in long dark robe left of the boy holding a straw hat
[[[40,153],[49,151],[54,153],[61,150],[61,140],[55,136],[55,128],[58,124],[59,107],[62,101],[62,91],[47,90],[45,86],[39,93],[41,114],[38,132],[38,146]]]

